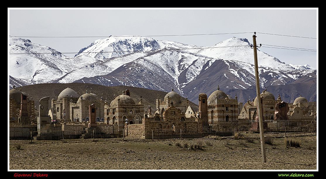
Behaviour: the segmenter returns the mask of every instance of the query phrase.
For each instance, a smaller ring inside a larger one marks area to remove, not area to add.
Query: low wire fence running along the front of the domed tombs
[[[259,127],[256,121],[216,122],[203,126],[197,135],[189,133],[189,129],[152,129],[133,131],[132,135],[126,130],[114,131],[108,129],[82,130],[79,133],[67,131],[11,131],[9,142],[49,142],[53,140],[69,141],[104,141],[104,140],[140,140],[140,139],[174,139],[174,138],[201,138],[225,136],[243,136],[259,138]],[[317,122],[315,120],[293,121],[264,121],[264,135],[271,137],[316,135]]]

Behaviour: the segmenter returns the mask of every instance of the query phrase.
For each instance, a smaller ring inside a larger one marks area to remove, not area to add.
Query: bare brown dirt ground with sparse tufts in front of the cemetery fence
[[[9,142],[9,170],[317,170],[317,136],[288,139],[300,147],[273,138],[266,162],[258,139],[233,137]]]

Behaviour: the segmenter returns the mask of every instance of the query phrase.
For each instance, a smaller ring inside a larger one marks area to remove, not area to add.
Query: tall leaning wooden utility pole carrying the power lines
[[[264,141],[264,128],[263,128],[263,116],[262,116],[262,102],[260,98],[260,88],[259,88],[259,75],[258,75],[258,60],[257,60],[257,44],[256,44],[256,32],[255,35],[252,36],[254,41],[254,58],[255,58],[255,75],[256,75],[256,91],[257,91],[257,113],[259,120],[259,132],[260,132],[260,148],[261,148],[261,157],[262,161],[266,162],[266,154],[265,154],[265,141]],[[260,44],[261,46],[261,44]]]

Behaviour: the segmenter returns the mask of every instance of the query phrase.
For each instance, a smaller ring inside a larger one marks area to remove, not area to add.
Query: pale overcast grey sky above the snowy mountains
[[[286,64],[308,64],[311,67],[317,68],[318,51],[308,52],[303,51],[303,49],[318,50],[318,8],[8,8],[8,39],[9,35],[24,36],[23,38],[30,39],[33,43],[49,46],[62,53],[77,53],[80,49],[87,47],[99,37],[109,37],[110,35],[162,36],[152,38],[211,47],[231,37],[247,38],[250,43],[253,43],[252,36],[254,34],[252,32],[257,32],[257,44],[282,46],[282,48],[301,48],[301,50],[284,50],[267,48],[273,46],[263,45],[259,48],[260,51],[274,56]],[[166,37],[164,35],[196,36]],[[74,56],[75,54],[65,55]]]

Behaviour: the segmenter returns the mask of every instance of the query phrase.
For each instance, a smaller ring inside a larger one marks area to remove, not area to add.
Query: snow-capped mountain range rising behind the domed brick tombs
[[[247,39],[236,37],[200,48],[148,37],[110,36],[71,58],[30,40],[10,37],[9,75],[15,84],[84,82],[166,92],[174,89],[193,102],[199,93],[209,96],[219,85],[244,102],[248,98],[244,91],[255,86],[250,45]],[[260,87],[317,79],[317,70],[308,65],[287,65],[259,49],[258,59]]]

